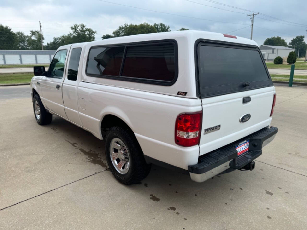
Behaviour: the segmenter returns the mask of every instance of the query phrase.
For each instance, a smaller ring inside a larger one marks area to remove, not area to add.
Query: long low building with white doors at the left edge
[[[0,65],[49,64],[55,50],[0,50]]]

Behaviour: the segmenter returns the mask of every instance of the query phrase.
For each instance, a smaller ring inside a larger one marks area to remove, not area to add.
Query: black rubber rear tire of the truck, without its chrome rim
[[[110,156],[110,144],[114,138],[120,139],[125,145],[129,153],[129,169],[126,174],[121,174],[117,171],[112,163]],[[108,165],[112,174],[117,180],[123,184],[130,185],[140,182],[150,172],[151,165],[147,164],[138,141],[133,132],[128,128],[114,126],[110,128],[106,135],[105,152]]]

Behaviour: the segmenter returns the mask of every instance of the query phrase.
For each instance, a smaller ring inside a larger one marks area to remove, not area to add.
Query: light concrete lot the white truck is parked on
[[[279,132],[254,171],[196,183],[153,166],[132,186],[103,141],[58,117],[37,125],[28,93],[7,96],[28,87],[0,87],[0,229],[306,229],[306,86],[276,86]]]

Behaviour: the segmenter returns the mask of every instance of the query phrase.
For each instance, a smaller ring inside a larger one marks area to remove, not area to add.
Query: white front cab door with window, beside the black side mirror
[[[66,56],[71,45],[67,48],[60,49],[54,55],[49,69],[48,75],[41,80],[41,90],[46,108],[53,113],[67,119],[64,111],[64,103],[62,97],[62,83],[64,80],[64,72],[66,68]]]

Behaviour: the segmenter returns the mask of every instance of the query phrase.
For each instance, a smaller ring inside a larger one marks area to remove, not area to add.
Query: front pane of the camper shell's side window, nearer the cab
[[[87,74],[119,76],[125,47],[91,48]]]

